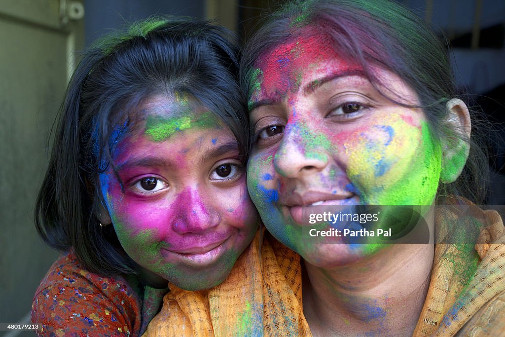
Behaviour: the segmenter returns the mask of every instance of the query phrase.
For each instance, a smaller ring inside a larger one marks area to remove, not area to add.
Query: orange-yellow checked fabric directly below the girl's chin
[[[220,285],[188,292],[170,284],[144,336],[311,336],[302,313],[299,259],[258,232]]]

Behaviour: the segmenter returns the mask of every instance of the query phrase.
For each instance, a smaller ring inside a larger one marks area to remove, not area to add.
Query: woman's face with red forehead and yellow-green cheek
[[[282,243],[321,267],[380,246],[324,245],[327,238],[309,236],[304,214],[321,213],[315,205],[432,205],[441,170],[422,110],[386,99],[330,46],[324,35],[311,36],[263,55],[249,102],[257,137],[247,167],[251,199]],[[396,75],[374,71],[387,83],[384,93],[418,103]]]

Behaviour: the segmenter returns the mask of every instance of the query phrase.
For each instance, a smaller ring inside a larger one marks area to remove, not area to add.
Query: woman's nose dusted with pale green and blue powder
[[[321,136],[299,122],[288,123],[277,153],[275,170],[286,178],[300,178],[323,170],[328,165]]]

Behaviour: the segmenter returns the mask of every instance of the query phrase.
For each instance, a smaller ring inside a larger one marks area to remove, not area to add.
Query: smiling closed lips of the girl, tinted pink
[[[216,262],[225,253],[224,246],[228,239],[229,237],[205,247],[187,247],[177,251],[166,249],[166,251],[188,266],[205,267]]]

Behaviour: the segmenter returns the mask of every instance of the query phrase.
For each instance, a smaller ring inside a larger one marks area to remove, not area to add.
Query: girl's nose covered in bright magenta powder
[[[201,196],[204,191],[185,190],[174,203],[175,218],[172,228],[178,234],[204,233],[221,222],[219,212],[212,205],[212,197]]]

